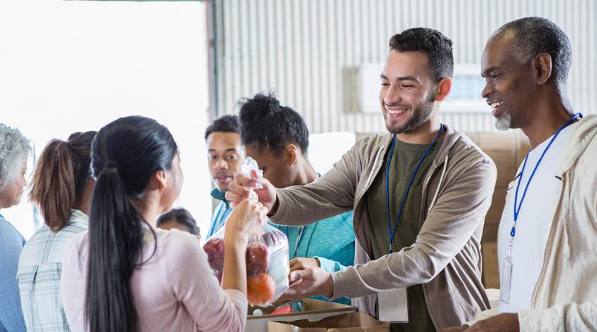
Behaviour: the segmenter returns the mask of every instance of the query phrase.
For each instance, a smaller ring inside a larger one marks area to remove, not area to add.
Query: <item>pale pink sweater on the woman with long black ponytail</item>
[[[244,331],[247,297],[240,290],[222,290],[199,239],[176,229],[157,229],[156,234],[155,254],[131,279],[140,331]],[[72,241],[63,261],[60,287],[72,331],[87,331],[87,245],[84,232]],[[153,248],[147,231],[143,261]]]

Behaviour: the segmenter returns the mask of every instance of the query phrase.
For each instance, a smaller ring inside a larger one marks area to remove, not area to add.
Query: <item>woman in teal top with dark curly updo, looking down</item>
[[[276,188],[317,180],[319,174],[307,158],[309,132],[296,111],[280,106],[272,95],[257,94],[242,103],[239,121],[245,154],[256,160],[263,177]],[[273,226],[288,237],[293,271],[322,267],[327,272],[336,272],[354,262],[353,212],[307,226]],[[324,300],[320,296],[314,298]],[[334,302],[350,304],[348,298]]]

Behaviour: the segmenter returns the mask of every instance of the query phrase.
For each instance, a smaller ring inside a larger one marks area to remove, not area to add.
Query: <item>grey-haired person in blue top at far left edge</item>
[[[0,212],[19,203],[30,151],[18,129],[0,124]],[[0,215],[0,332],[25,331],[16,279],[23,245],[25,238]]]

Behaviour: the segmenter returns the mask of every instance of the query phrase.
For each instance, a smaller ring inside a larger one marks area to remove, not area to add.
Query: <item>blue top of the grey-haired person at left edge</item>
[[[23,243],[22,235],[13,226],[0,220],[0,327],[11,332],[26,330],[17,283]]]

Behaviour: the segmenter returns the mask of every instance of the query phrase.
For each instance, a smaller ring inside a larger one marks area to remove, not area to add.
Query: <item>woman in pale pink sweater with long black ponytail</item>
[[[245,200],[225,229],[222,287],[199,238],[157,229],[183,184],[166,127],[122,117],[96,135],[89,230],[72,242],[61,290],[73,331],[244,331],[248,235],[267,210]],[[223,289],[222,289],[223,288]]]

